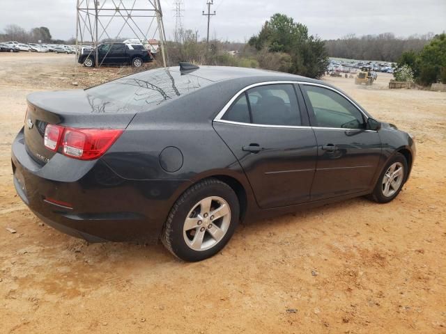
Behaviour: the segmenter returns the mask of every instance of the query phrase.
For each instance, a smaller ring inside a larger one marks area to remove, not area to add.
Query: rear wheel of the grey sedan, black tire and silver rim
[[[214,218],[217,212],[222,216]],[[176,200],[164,223],[162,244],[181,260],[204,260],[231,239],[239,213],[238,198],[230,186],[214,178],[202,180]]]

